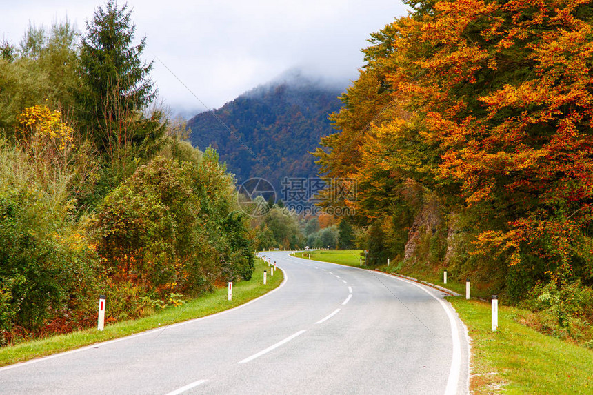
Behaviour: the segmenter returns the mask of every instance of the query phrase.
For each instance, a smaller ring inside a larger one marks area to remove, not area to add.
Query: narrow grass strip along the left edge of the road
[[[0,348],[0,366],[72,350],[237,307],[270,292],[283,281],[284,276],[280,270],[274,273],[274,276],[270,276],[268,270],[268,281],[266,285],[263,285],[263,270],[268,270],[268,264],[257,259],[252,279],[233,284],[232,301],[228,301],[228,290],[224,287],[194,299],[185,305],[168,307],[145,318],[106,325],[103,331],[97,329],[83,330],[2,347]]]

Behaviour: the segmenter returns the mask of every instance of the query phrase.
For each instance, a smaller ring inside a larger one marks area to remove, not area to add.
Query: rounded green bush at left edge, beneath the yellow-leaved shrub
[[[39,330],[92,290],[94,251],[50,207],[36,192],[0,192],[0,331]]]

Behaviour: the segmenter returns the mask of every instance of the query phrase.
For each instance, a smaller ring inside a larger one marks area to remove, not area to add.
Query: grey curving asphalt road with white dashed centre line
[[[268,252],[274,292],[234,310],[0,368],[0,394],[466,394],[444,294]],[[258,274],[256,274],[258,275]]]

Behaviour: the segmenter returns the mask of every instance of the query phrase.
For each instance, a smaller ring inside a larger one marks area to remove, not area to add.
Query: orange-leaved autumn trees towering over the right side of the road
[[[453,270],[514,299],[537,281],[593,285],[591,3],[409,5],[372,34],[316,152],[328,178],[358,181],[342,204],[401,233],[436,199],[443,234],[465,235]]]

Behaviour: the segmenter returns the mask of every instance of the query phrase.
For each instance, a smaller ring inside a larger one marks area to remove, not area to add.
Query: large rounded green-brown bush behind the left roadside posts
[[[232,183],[217,166],[157,156],[105,197],[93,227],[114,283],[162,296],[251,277],[245,214],[231,210]]]

